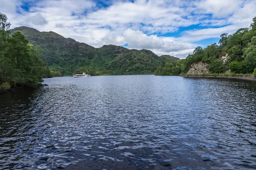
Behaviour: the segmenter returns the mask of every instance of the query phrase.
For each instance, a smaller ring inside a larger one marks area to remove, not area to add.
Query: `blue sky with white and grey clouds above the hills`
[[[0,0],[12,27],[54,31],[94,47],[121,45],[185,58],[250,26],[256,0]]]

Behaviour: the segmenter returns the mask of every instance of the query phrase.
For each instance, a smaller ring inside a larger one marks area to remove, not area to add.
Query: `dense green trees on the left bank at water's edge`
[[[1,28],[2,23],[6,23],[6,18],[0,14]],[[2,20],[4,18],[4,21]],[[37,87],[43,77],[47,77],[47,66],[38,57],[40,47],[34,47],[20,32],[16,31],[12,36],[9,32],[0,32],[0,84],[3,87],[15,87],[17,85]]]

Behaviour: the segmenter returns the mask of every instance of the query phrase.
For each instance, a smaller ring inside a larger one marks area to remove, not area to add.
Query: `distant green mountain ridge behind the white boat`
[[[157,56],[149,50],[127,49],[116,45],[94,48],[85,43],[65,38],[55,32],[40,32],[25,26],[11,31],[21,31],[32,45],[40,45],[41,57],[52,73],[73,74],[89,70],[96,74],[153,74],[162,63],[178,60],[169,55]],[[55,76],[55,75],[53,75]]]

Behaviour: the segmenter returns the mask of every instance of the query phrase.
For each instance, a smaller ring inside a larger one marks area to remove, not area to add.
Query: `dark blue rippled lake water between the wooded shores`
[[[0,94],[0,169],[256,169],[256,82],[100,76]]]

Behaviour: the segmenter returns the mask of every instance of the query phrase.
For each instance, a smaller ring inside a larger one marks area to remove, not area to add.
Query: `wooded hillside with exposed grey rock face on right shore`
[[[218,44],[197,47],[186,59],[163,63],[155,74],[256,76],[256,17],[250,27],[240,28],[231,35],[224,33],[220,37]]]

